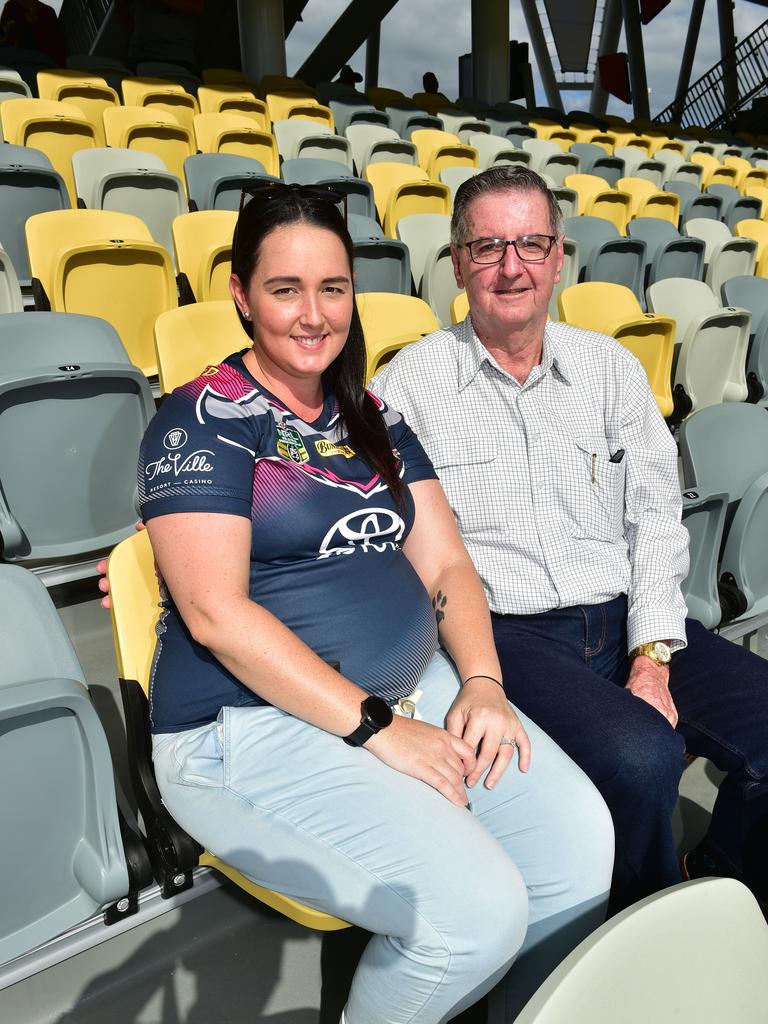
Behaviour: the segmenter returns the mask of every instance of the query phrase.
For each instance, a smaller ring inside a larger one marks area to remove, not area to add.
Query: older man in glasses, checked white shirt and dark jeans
[[[610,807],[616,908],[680,881],[686,751],[727,773],[686,873],[741,877],[768,898],[768,666],[686,621],[677,453],[642,367],[548,322],[562,226],[537,174],[463,184],[452,242],[469,316],[401,351],[374,389],[445,488],[507,695]]]

